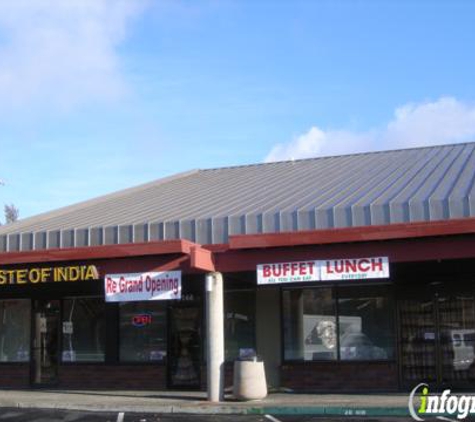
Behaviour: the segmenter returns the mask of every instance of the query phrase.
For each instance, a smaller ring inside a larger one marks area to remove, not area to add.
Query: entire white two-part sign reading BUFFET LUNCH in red
[[[257,284],[389,278],[387,257],[279,262],[257,266]]]

